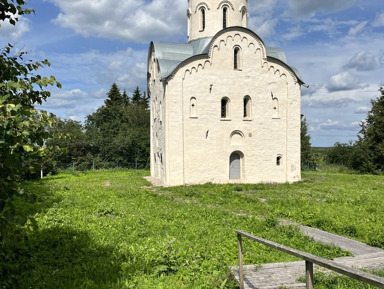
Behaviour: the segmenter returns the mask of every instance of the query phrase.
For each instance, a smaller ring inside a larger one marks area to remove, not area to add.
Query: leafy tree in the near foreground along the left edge
[[[1,22],[17,22],[17,15],[29,14],[23,0],[0,2]],[[17,15],[16,15],[17,14]],[[36,70],[49,66],[47,60],[33,62],[24,60],[26,53],[11,55],[12,46],[0,49],[0,288],[17,287],[12,266],[17,254],[17,244],[24,235],[18,230],[27,221],[22,209],[14,203],[16,195],[25,194],[18,183],[26,174],[33,173],[44,162],[45,140],[48,128],[54,120],[44,111],[35,109],[49,96],[48,85],[60,87],[51,76],[42,77]],[[34,219],[29,218],[32,224]]]

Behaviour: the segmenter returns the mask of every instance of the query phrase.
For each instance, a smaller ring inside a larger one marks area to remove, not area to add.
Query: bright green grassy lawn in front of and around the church
[[[39,228],[25,227],[21,288],[237,288],[228,272],[238,262],[235,229],[324,258],[348,255],[279,226],[280,218],[384,248],[383,176],[306,172],[295,184],[150,188],[147,174],[26,183],[37,203],[18,206]],[[296,260],[249,240],[244,250],[247,264]],[[319,288],[369,288],[343,280],[317,277],[326,284]]]

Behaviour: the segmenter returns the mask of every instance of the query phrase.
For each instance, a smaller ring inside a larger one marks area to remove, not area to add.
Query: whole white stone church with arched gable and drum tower
[[[152,42],[151,177],[300,180],[300,74],[247,28],[247,0],[188,0],[188,42]]]

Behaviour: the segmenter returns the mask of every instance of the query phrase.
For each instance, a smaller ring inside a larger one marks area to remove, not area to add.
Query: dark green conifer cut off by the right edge
[[[372,108],[360,124],[356,142],[357,151],[352,166],[362,173],[384,171],[384,88],[379,91],[381,95],[371,100]]]

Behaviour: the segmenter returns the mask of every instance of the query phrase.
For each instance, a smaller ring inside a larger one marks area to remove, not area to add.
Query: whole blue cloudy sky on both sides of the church
[[[29,0],[35,15],[2,23],[0,45],[33,60],[47,58],[63,85],[46,109],[83,121],[103,104],[111,84],[146,89],[152,40],[186,41],[187,0]],[[384,84],[384,1],[248,0],[249,28],[283,48],[310,88],[302,113],[313,146],[355,140],[370,100]]]

